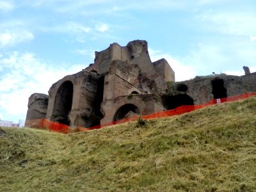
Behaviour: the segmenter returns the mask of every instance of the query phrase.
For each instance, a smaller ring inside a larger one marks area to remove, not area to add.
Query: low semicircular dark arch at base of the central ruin
[[[124,106],[117,109],[113,121],[122,120],[124,118],[129,118],[129,116],[135,116],[140,114],[137,106],[134,104],[125,104]]]

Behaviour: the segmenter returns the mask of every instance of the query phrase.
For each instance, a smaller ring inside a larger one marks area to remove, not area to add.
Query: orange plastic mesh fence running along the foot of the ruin
[[[202,104],[202,105],[196,105],[196,106],[179,106],[175,109],[171,109],[168,111],[157,111],[156,113],[152,113],[150,115],[144,115],[141,116],[143,119],[152,119],[152,118],[163,118],[168,116],[174,116],[174,115],[181,115],[184,113],[188,113],[190,111],[195,111],[197,109],[202,109],[207,106],[211,106],[214,104],[219,104],[223,102],[232,102],[236,100],[246,99],[248,97],[256,96],[256,93],[244,93],[242,95],[236,95],[234,97],[227,97],[222,99],[213,99],[209,102]],[[94,127],[84,128],[84,127],[77,127],[76,129],[70,128],[68,125],[60,124],[58,122],[51,122],[46,119],[40,119],[40,120],[27,120],[26,124],[29,125],[29,127],[35,127],[39,129],[49,129],[50,131],[54,132],[61,132],[64,134],[68,134],[74,131],[90,131],[93,129],[100,129],[102,127],[108,127],[110,125],[116,125],[116,124],[122,124],[125,122],[131,122],[138,119],[138,116],[132,116],[131,118],[125,118],[122,120],[118,120],[116,122],[109,122],[107,124],[97,125]]]

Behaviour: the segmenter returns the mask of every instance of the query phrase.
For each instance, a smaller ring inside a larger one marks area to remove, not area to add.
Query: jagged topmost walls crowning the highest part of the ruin
[[[99,74],[106,74],[110,70],[111,63],[115,60],[138,65],[141,72],[147,74],[149,79],[156,82],[159,92],[163,92],[166,89],[164,81],[175,81],[175,74],[166,60],[159,61],[159,65],[154,67],[148,54],[147,42],[143,40],[134,40],[125,47],[114,43],[104,51],[95,52],[95,63],[85,70],[88,72],[95,70]]]

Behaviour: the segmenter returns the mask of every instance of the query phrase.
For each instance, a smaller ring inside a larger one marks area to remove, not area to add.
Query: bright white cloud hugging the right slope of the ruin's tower
[[[185,65],[179,59],[174,58],[170,54],[166,54],[161,51],[154,51],[150,48],[148,48],[148,52],[153,62],[161,60],[162,58],[168,61],[170,67],[172,67],[175,72],[175,81],[184,81],[196,76],[196,68],[191,65]]]

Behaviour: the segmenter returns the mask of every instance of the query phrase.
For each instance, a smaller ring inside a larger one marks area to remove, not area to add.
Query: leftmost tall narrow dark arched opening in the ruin
[[[52,120],[61,124],[70,125],[68,114],[72,108],[73,83],[65,81],[56,93]]]

